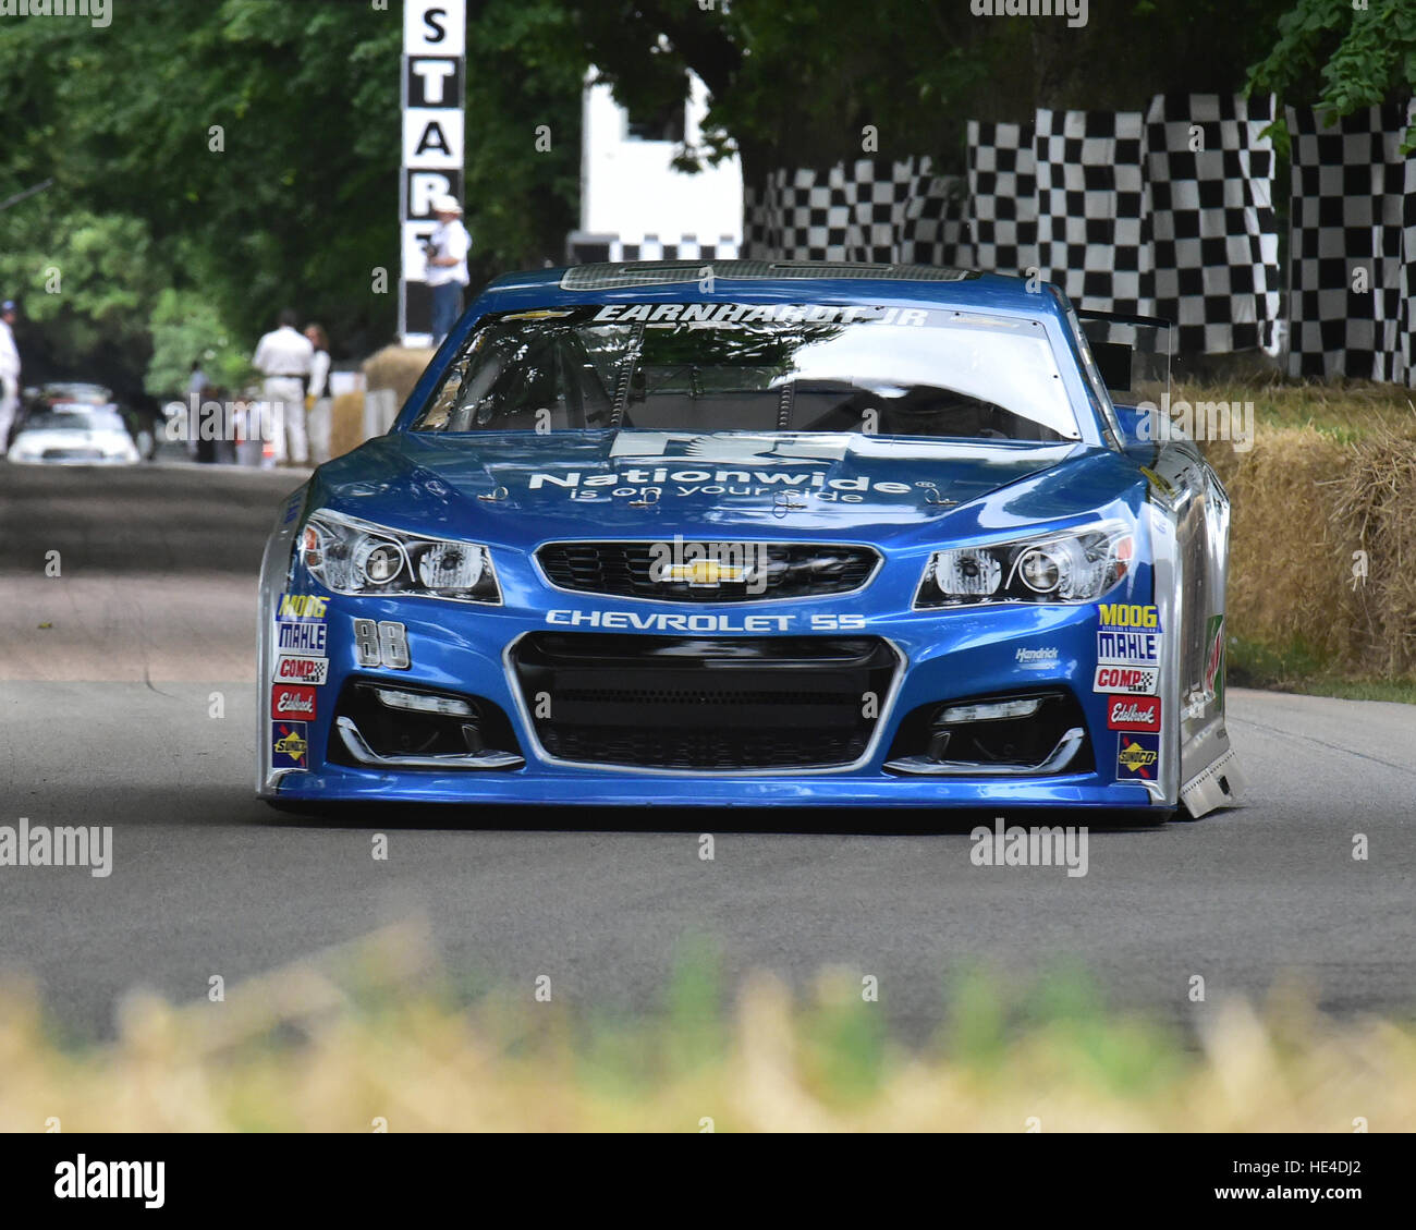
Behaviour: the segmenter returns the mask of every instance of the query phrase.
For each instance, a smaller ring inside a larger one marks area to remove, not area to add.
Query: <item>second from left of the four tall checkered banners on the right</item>
[[[1138,111],[1038,111],[1038,266],[1079,308],[1154,313],[1146,122]]]

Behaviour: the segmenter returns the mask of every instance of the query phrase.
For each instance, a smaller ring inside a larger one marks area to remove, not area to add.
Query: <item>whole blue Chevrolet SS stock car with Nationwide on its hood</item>
[[[1229,500],[1168,350],[926,266],[504,276],[278,519],[259,794],[1222,806]]]

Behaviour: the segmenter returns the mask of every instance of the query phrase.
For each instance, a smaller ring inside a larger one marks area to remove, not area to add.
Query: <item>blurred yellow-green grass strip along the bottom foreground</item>
[[[1280,992],[1197,1005],[1198,1047],[1106,1010],[1062,969],[1027,992],[949,988],[936,1040],[891,1040],[855,972],[803,1003],[756,975],[728,1005],[690,948],[663,1010],[459,1003],[423,931],[389,928],[227,988],[125,1002],[119,1040],[64,1050],[33,989],[0,992],[0,1129],[44,1131],[1372,1131],[1416,1129],[1416,1030],[1334,1023]],[[889,988],[882,988],[882,998]]]

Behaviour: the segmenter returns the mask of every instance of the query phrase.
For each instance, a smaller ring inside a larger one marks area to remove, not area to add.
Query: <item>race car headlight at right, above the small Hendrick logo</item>
[[[950,547],[929,557],[915,608],[1092,602],[1126,575],[1134,551],[1131,531],[1120,524]]]

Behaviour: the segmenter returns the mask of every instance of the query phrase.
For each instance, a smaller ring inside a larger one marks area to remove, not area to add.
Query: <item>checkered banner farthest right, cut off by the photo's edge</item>
[[[1416,159],[1405,106],[1289,108],[1289,374],[1413,381]]]

